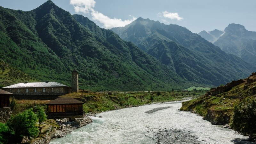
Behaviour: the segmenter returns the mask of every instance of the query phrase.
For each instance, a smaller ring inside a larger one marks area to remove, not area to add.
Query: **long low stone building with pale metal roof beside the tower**
[[[57,82],[19,83],[1,88],[14,95],[64,95],[71,92],[71,87]]]

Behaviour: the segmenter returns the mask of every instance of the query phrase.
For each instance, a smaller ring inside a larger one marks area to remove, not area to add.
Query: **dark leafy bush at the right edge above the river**
[[[250,139],[256,139],[256,98],[247,97],[235,105],[230,126]]]

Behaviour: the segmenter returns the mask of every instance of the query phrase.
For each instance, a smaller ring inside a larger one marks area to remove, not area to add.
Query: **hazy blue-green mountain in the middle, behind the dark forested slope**
[[[125,27],[111,30],[190,82],[226,84],[249,76],[255,70],[252,65],[178,25],[140,17]]]

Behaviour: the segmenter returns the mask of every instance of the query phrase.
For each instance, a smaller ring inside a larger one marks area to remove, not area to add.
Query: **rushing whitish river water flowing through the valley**
[[[145,113],[153,108],[171,106],[153,113]],[[246,143],[236,138],[248,138],[235,133],[231,129],[223,129],[212,125],[190,112],[179,111],[180,102],[152,104],[138,108],[124,108],[97,114],[92,124],[54,139],[50,144],[144,144],[155,143],[154,137],[159,129],[184,129],[195,134],[202,143]],[[102,116],[99,118],[98,116]],[[247,142],[249,143],[249,142]]]

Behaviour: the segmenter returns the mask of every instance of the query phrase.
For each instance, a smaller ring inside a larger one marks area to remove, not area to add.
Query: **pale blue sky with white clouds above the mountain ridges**
[[[46,0],[1,0],[0,6],[30,11]],[[52,0],[71,14],[82,14],[101,28],[123,27],[139,17],[177,24],[193,33],[224,30],[229,23],[256,31],[256,0]]]

